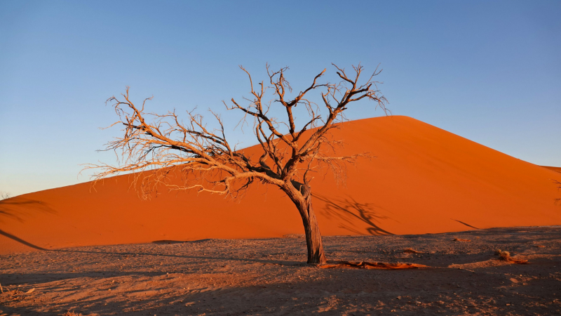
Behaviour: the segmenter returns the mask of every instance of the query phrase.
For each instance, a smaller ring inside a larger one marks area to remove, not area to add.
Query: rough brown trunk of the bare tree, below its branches
[[[307,184],[301,185],[300,192],[302,195],[289,195],[292,202],[296,204],[302,223],[304,224],[304,232],[306,232],[306,246],[308,246],[308,263],[323,264],[326,263],[325,253],[323,252],[323,242],[321,242],[320,228],[316,213],[313,212],[311,205],[311,192]]]

